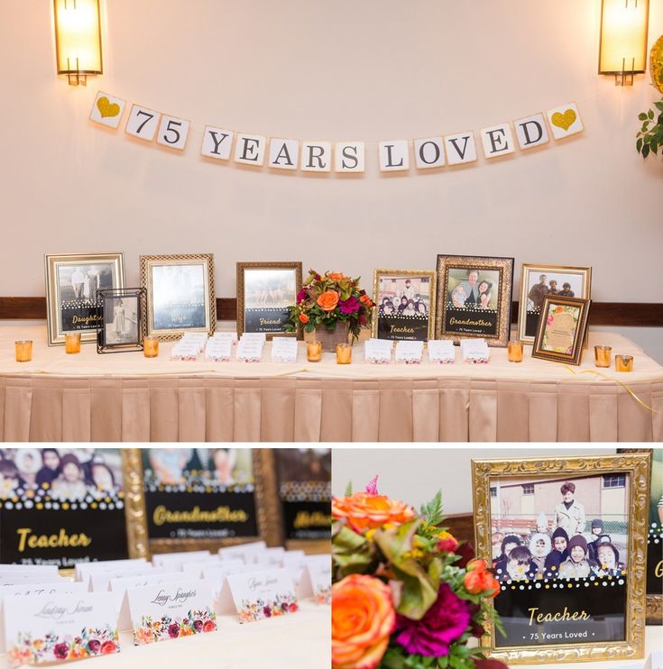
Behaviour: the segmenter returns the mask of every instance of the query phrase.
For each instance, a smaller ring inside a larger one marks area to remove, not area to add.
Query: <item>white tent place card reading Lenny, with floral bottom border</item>
[[[216,631],[212,593],[204,581],[182,579],[126,594],[135,646]]]

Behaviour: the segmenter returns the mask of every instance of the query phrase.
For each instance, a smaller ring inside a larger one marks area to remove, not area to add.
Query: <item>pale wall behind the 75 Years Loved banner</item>
[[[0,199],[16,232],[0,295],[43,295],[45,252],[123,250],[130,285],[140,253],[214,252],[218,297],[235,295],[235,261],[301,260],[371,285],[376,267],[433,268],[449,252],[589,264],[596,300],[661,301],[663,161],[634,148],[658,94],[649,75],[624,88],[596,75],[600,0],[103,5],[105,74],[87,88],[55,76],[51,4],[5,6]],[[651,0],[649,42],[661,32]],[[99,88],[190,119],[184,155],[90,124]],[[359,178],[198,155],[207,123],[378,142],[571,100],[585,133],[475,167],[381,175],[374,145]]]

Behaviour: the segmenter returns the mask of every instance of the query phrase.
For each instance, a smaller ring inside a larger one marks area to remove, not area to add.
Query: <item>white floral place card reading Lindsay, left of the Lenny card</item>
[[[5,615],[5,642],[10,667],[118,653],[113,599],[107,592],[17,597]]]

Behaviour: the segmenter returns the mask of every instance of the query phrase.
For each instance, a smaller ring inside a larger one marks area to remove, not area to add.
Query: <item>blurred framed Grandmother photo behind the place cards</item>
[[[273,454],[252,448],[144,448],[152,553],[216,551],[263,539],[281,545]]]

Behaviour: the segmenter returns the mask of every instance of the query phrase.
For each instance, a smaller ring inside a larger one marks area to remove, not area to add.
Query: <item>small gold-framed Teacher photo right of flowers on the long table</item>
[[[426,342],[435,336],[435,272],[375,270],[372,336]]]

